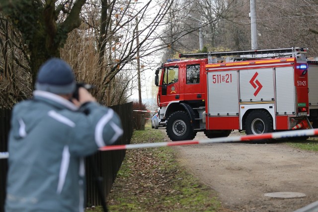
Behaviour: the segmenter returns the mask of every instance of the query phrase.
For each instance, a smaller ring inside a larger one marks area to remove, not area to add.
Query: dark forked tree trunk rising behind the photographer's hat
[[[26,45],[33,83],[44,61],[60,57],[67,34],[80,25],[79,13],[84,3],[85,0],[66,0],[57,5],[55,0],[0,2],[1,12],[21,33]]]

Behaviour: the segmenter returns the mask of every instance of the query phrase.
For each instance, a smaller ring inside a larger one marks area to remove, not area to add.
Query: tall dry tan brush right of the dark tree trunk
[[[125,103],[126,95],[123,90],[126,89],[129,79],[118,74],[122,83],[118,83],[119,81],[116,83],[116,77],[109,82],[112,68],[110,65],[112,58],[109,57],[111,52],[106,48],[104,60],[99,63],[96,43],[94,32],[86,25],[82,25],[80,29],[69,34],[67,43],[61,50],[61,58],[71,64],[79,82],[95,86],[91,92],[98,102],[107,106]]]

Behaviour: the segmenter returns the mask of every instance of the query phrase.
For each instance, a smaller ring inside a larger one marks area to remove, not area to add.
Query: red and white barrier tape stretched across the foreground
[[[109,145],[99,148],[101,151],[119,150],[119,149],[137,149],[137,148],[155,148],[161,146],[177,146],[177,145],[189,145],[189,144],[203,144],[203,143],[225,143],[236,141],[253,141],[261,139],[285,139],[292,137],[303,136],[316,136],[318,135],[318,129],[310,130],[296,130],[296,131],[284,131],[276,133],[264,133],[262,135],[248,135],[248,136],[235,136],[216,139],[202,139],[197,141],[168,141],[168,142],[156,142],[156,143],[136,143],[125,145]],[[0,159],[8,158],[8,152],[0,152]]]

